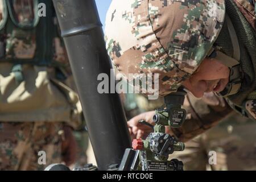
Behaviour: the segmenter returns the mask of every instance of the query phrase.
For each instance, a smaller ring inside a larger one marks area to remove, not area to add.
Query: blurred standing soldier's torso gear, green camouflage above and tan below
[[[80,126],[82,109],[52,1],[0,0],[0,87],[0,122]]]

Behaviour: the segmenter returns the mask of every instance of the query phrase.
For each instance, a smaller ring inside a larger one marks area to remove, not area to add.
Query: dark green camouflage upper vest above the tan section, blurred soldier
[[[67,67],[60,37],[52,1],[0,0],[0,63]]]

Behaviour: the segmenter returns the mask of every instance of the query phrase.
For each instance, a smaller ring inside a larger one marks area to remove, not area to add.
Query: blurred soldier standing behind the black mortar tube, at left
[[[1,0],[0,14],[0,169],[70,165],[81,106],[52,2]]]

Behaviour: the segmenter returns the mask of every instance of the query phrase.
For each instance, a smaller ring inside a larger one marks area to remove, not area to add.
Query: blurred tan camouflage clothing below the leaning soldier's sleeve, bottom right
[[[256,170],[256,123],[232,113],[216,127],[188,142],[185,150],[174,152],[184,170]],[[216,152],[216,164],[210,164],[210,151]]]

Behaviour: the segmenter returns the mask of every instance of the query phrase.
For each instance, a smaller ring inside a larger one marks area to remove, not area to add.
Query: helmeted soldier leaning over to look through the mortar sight
[[[106,47],[124,75],[134,73],[136,79],[158,73],[160,96],[180,86],[195,97],[218,94],[217,105],[189,102],[191,114],[183,126],[168,130],[187,141],[216,126],[232,109],[255,120],[254,16],[252,1],[114,0],[106,18]],[[150,132],[138,121],[152,123],[153,114],[131,119],[134,138]]]

